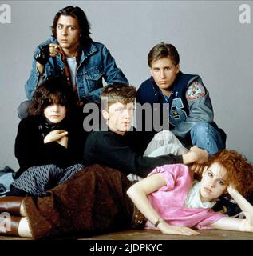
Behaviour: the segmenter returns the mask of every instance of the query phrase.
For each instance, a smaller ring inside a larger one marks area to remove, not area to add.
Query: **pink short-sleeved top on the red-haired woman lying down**
[[[163,174],[167,185],[148,195],[148,201],[160,217],[169,225],[196,227],[199,230],[211,229],[213,222],[223,218],[210,208],[188,208],[184,206],[188,191],[192,187],[193,173],[183,164],[157,167],[149,175]],[[147,222],[145,229],[155,229]]]

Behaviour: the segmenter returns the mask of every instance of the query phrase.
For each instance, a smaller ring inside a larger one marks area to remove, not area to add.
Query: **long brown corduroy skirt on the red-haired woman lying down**
[[[43,197],[24,200],[34,239],[78,237],[131,228],[131,182],[109,167],[84,167]]]

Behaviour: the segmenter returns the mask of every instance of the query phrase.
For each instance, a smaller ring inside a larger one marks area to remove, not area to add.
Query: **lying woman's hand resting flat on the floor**
[[[161,222],[158,227],[163,234],[182,234],[182,235],[200,234],[196,230],[192,230],[187,226],[171,226],[171,225],[168,225],[166,222]]]

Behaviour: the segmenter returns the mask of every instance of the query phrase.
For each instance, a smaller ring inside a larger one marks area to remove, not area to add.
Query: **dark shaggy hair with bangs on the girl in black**
[[[64,78],[52,77],[38,86],[34,91],[28,113],[43,115],[45,108],[53,104],[65,106],[66,115],[69,115],[76,106],[73,89],[65,82]]]

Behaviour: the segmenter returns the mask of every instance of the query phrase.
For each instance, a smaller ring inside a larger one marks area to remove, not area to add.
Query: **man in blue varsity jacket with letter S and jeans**
[[[213,121],[211,99],[202,79],[196,74],[182,73],[179,62],[180,56],[172,44],[162,42],[154,46],[148,54],[151,78],[140,85],[136,101],[141,105],[150,103],[153,117],[160,114],[162,118],[165,111],[166,118],[160,121],[169,122],[169,130],[184,145],[196,145],[215,154],[225,148],[226,134]],[[154,103],[161,103],[160,107]],[[144,124],[144,116],[142,119]]]

